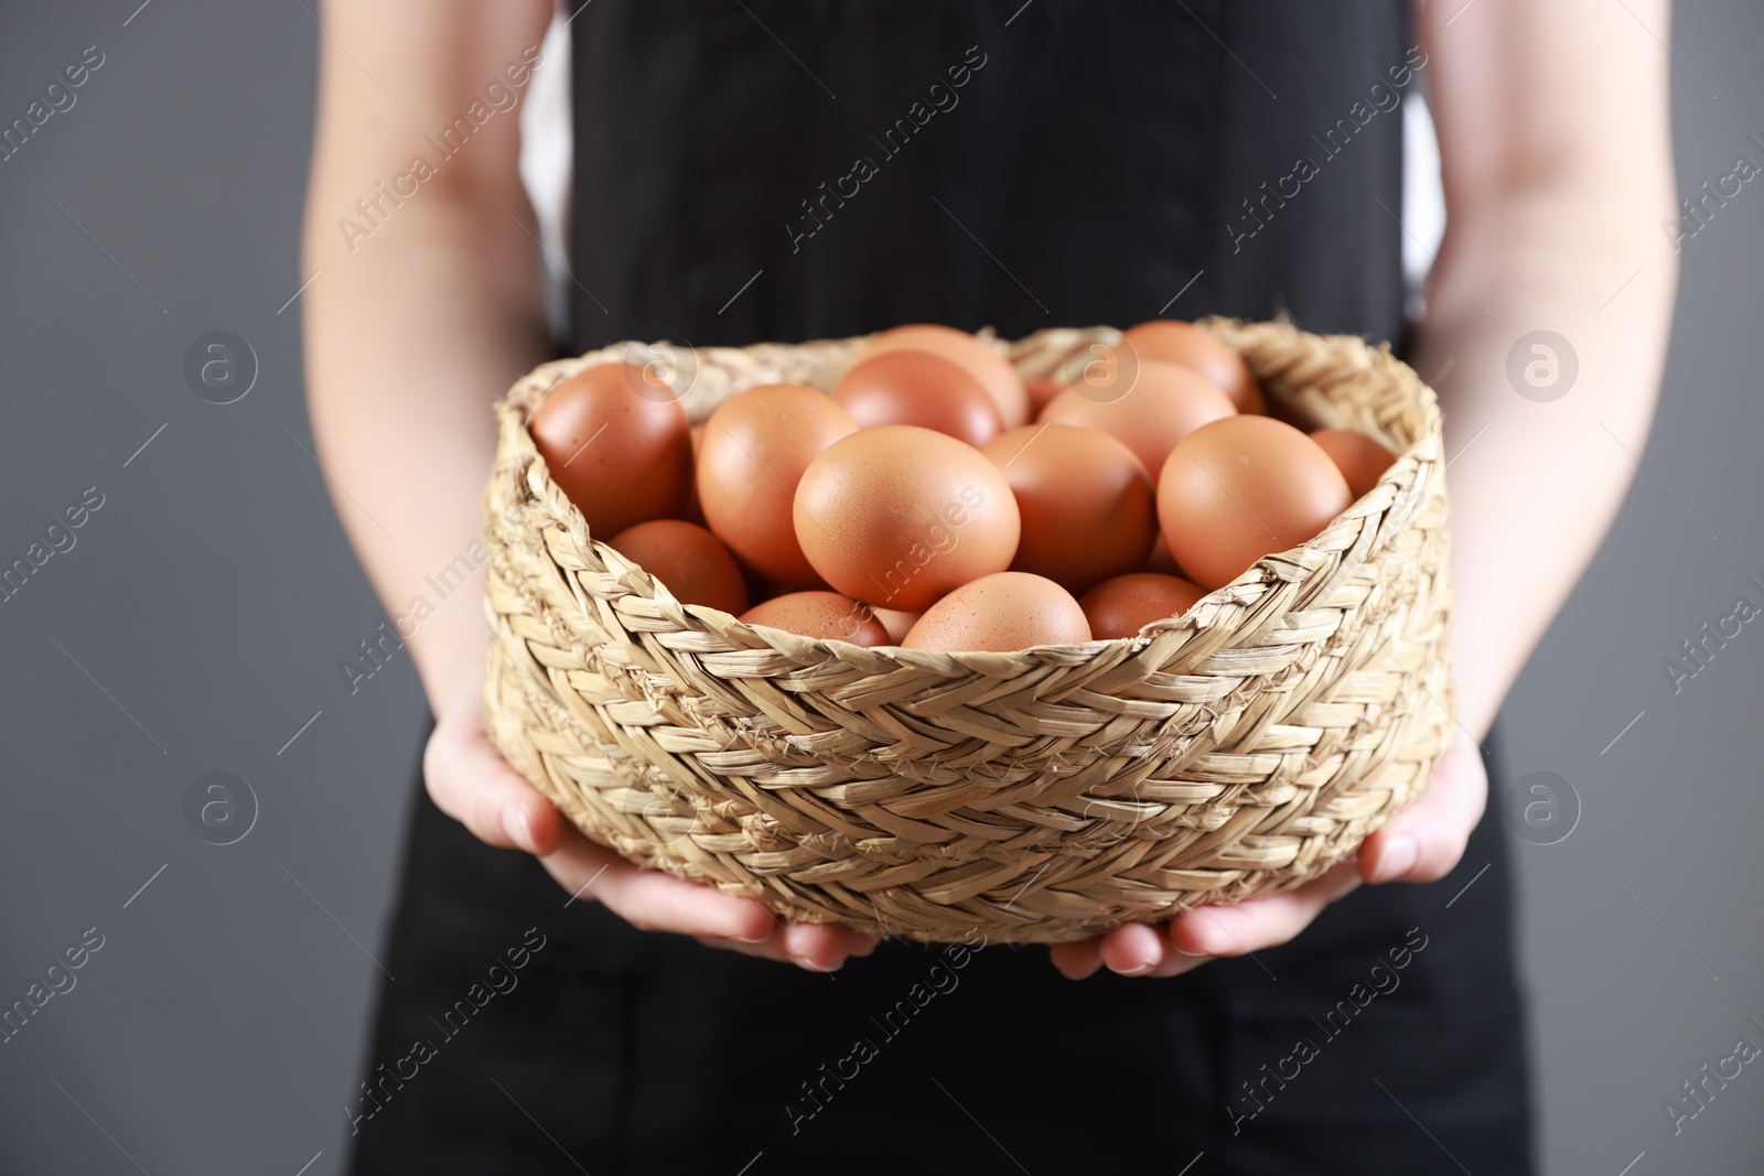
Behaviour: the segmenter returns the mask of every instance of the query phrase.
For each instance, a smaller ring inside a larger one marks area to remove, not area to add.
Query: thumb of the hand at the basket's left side
[[[550,853],[563,815],[490,746],[476,684],[448,707],[423,748],[423,781],[443,813],[497,848]]]

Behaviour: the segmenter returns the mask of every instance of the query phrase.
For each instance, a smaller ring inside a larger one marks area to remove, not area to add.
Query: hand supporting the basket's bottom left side
[[[707,947],[810,971],[834,971],[847,956],[875,950],[873,934],[780,922],[751,899],[640,869],[584,837],[490,744],[482,682],[478,674],[460,688],[423,751],[429,795],[480,841],[536,855],[566,892],[603,903],[639,931],[690,934]]]

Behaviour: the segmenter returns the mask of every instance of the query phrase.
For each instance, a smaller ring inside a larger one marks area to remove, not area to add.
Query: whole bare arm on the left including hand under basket
[[[482,532],[490,404],[547,358],[512,97],[550,16],[550,0],[323,7],[307,400],[332,501],[392,615]],[[759,903],[637,869],[575,832],[483,730],[482,578],[404,640],[439,719],[429,793],[482,841],[536,853],[572,894],[644,929],[810,970],[873,949],[875,936],[778,924]]]

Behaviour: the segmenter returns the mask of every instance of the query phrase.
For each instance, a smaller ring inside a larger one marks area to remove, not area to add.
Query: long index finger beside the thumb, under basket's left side
[[[658,869],[640,869],[573,829],[557,850],[540,857],[572,894],[594,897],[639,931],[764,943],[776,922],[753,899],[734,897]]]

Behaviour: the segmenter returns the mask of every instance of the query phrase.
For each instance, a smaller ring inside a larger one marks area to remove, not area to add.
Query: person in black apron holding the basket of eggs
[[[325,7],[312,418],[402,612],[478,532],[487,402],[552,354],[501,97],[552,12]],[[1639,450],[1656,395],[1665,0],[598,0],[570,19],[566,353],[1281,310],[1408,340],[1457,455],[1462,732],[1357,862],[1295,894],[1048,954],[878,945],[568,829],[483,737],[485,633],[455,594],[409,640],[437,728],[399,980],[346,1109],[356,1171],[1529,1171],[1482,744],[1633,473],[1598,423]],[[1406,323],[1395,108],[1420,78],[1448,231]],[[1540,330],[1577,354],[1579,397],[1508,379]]]

